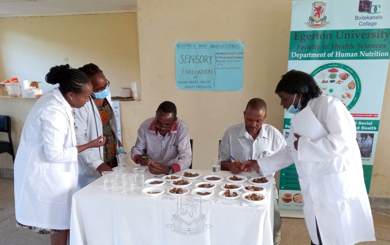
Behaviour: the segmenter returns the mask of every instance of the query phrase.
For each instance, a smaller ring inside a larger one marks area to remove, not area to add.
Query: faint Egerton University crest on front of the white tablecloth
[[[177,197],[176,214],[172,215],[173,224],[166,225],[172,231],[182,235],[197,235],[203,233],[210,225],[202,214],[202,196],[189,193]]]

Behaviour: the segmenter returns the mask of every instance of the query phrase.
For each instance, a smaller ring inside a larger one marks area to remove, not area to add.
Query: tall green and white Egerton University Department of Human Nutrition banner
[[[354,117],[367,193],[389,53],[390,1],[293,1],[288,70],[312,75],[323,94],[339,99]],[[284,114],[285,137],[294,137],[292,117]],[[279,196],[293,196],[279,200],[280,209],[302,210],[300,190],[295,166],[280,170]]]

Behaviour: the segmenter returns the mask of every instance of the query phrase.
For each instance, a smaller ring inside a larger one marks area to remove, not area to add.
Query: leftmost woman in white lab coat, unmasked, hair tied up
[[[51,234],[51,244],[60,245],[66,244],[70,226],[77,153],[100,147],[105,137],[76,144],[73,108],[82,107],[92,91],[83,72],[54,66],[46,82],[59,87],[35,103],[23,126],[14,164],[15,214],[18,227]]]

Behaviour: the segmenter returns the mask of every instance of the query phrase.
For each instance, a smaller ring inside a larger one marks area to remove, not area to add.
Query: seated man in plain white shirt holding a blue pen
[[[286,145],[283,135],[273,126],[265,124],[267,117],[266,102],[260,98],[251,99],[244,111],[244,123],[228,128],[223,135],[218,154],[222,159],[221,169],[234,174],[241,173],[241,163],[249,159],[258,159],[280,151]],[[239,164],[234,163],[230,156]],[[274,244],[280,243],[282,219],[278,209],[278,191],[274,180]]]

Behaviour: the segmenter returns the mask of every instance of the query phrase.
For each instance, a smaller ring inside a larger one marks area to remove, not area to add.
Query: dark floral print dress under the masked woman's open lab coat
[[[111,127],[113,110],[107,100],[104,100],[104,103],[102,107],[97,106],[103,124],[103,135],[106,137],[106,144],[103,146],[103,160],[108,166],[113,168],[118,166],[116,157],[118,154],[118,139]]]

